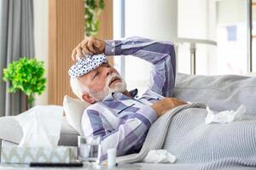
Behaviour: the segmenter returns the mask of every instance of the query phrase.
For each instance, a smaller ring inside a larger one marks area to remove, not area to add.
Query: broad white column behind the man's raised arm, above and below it
[[[173,4],[173,2],[175,4]],[[170,0],[125,1],[125,37],[139,36],[172,41],[177,38],[177,2]],[[146,90],[151,64],[135,57],[125,57],[128,88]]]

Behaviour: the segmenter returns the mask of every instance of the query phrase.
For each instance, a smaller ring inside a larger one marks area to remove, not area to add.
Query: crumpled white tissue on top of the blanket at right
[[[210,110],[207,106],[207,117],[206,124],[211,122],[228,123],[234,121],[241,121],[243,116],[246,114],[247,109],[244,105],[240,105],[236,111],[220,111],[215,112]]]

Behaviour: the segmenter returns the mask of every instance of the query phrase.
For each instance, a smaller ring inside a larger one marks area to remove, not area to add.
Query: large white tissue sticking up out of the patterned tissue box
[[[53,147],[58,145],[61,133],[61,106],[44,105],[15,116],[20,123],[23,137],[19,146]]]

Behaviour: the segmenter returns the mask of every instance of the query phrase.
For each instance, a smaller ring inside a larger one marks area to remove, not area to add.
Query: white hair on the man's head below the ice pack
[[[82,96],[84,92],[88,93],[89,88],[83,85],[83,87],[79,83],[79,79],[77,77],[70,77],[70,86],[72,88],[73,94],[76,94],[76,96],[83,100]]]

